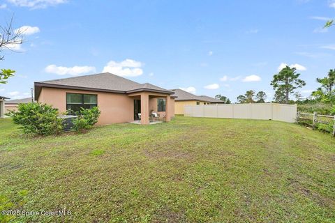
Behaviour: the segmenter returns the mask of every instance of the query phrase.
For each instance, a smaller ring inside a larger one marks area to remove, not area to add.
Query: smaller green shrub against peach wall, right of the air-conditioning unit
[[[98,107],[91,109],[81,108],[80,112],[76,113],[78,117],[73,120],[73,130],[83,132],[92,128],[98,122],[100,114],[101,112]]]

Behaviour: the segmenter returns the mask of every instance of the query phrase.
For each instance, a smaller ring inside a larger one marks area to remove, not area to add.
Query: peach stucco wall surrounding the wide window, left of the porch
[[[125,94],[43,87],[38,102],[52,105],[59,113],[66,112],[66,93],[90,93],[98,95],[98,107],[101,115],[97,125],[126,123],[134,120],[133,98]]]

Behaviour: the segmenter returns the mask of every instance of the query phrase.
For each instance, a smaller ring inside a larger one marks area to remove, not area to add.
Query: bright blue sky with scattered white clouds
[[[34,82],[111,72],[164,89],[271,100],[273,75],[297,68],[305,97],[335,68],[335,0],[0,0],[22,45],[1,52],[16,70],[0,95],[27,98]]]

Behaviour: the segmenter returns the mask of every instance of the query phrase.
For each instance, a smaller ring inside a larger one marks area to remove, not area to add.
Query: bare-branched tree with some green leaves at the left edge
[[[10,22],[6,24],[6,26],[0,26],[0,53],[3,49],[13,50],[13,46],[22,44],[22,33],[21,29],[13,29],[13,17]],[[0,61],[4,58],[3,55],[0,54]],[[6,84],[8,77],[12,77],[15,70],[10,69],[1,69],[0,72],[0,84]]]

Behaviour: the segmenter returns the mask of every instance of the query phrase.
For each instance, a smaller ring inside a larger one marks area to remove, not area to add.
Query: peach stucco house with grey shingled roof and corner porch
[[[101,116],[97,125],[133,121],[147,125],[151,112],[164,121],[174,116],[174,91],[108,72],[35,82],[34,89],[37,102],[52,105],[60,113],[98,106]]]

